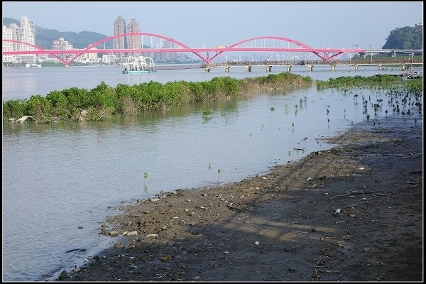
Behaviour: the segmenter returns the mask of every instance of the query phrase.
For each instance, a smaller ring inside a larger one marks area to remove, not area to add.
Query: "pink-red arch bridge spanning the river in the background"
[[[114,40],[115,38],[122,38],[126,36],[136,36],[136,35],[146,35],[151,36],[153,38],[160,38],[161,40],[168,40],[171,43],[175,43],[178,45],[178,48],[138,48],[138,49],[92,49],[99,45],[102,45],[103,43]],[[280,45],[284,46],[284,43],[291,43],[292,48],[284,48],[284,47],[261,47],[256,48],[256,42],[255,47],[253,46],[247,48],[247,47],[241,47],[240,45],[246,45],[247,43],[256,41],[256,40],[278,40],[280,42]],[[173,38],[168,38],[164,35],[156,35],[154,33],[124,33],[121,35],[113,35],[108,38],[104,38],[103,40],[99,40],[96,43],[93,43],[89,45],[87,48],[84,48],[82,50],[45,50],[44,48],[40,48],[40,46],[32,45],[30,43],[24,43],[19,40],[3,40],[4,42],[10,42],[10,43],[20,43],[23,45],[28,45],[34,48],[34,50],[17,50],[17,51],[3,51],[3,55],[40,55],[40,54],[49,54],[52,55],[55,58],[58,58],[60,62],[62,62],[65,66],[70,65],[72,61],[74,61],[76,58],[78,58],[80,55],[84,53],[194,53],[199,57],[201,60],[203,60],[205,63],[210,63],[214,59],[216,59],[219,55],[222,55],[223,53],[227,52],[291,52],[291,53],[314,53],[319,58],[321,58],[324,61],[330,61],[335,58],[337,58],[339,55],[342,55],[344,53],[365,53],[366,50],[363,49],[330,49],[330,48],[311,48],[310,46],[306,45],[305,43],[301,43],[300,41],[293,40],[291,38],[283,38],[280,36],[260,36],[257,38],[248,38],[246,40],[241,40],[238,43],[234,43],[229,46],[225,47],[218,47],[218,48],[190,48],[189,46],[185,45],[185,43],[181,43],[178,40],[175,40]],[[293,44],[296,45],[296,48],[293,48]],[[205,56],[203,54],[206,54]],[[209,58],[209,53],[215,53],[212,58]],[[72,54],[73,56],[71,58],[62,59],[59,55],[65,54],[69,55]]]

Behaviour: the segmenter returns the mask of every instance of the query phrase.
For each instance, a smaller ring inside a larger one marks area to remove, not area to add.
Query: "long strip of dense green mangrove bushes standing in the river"
[[[190,102],[213,101],[229,97],[243,97],[269,89],[311,87],[312,79],[285,72],[258,78],[237,80],[214,77],[207,82],[175,81],[161,84],[143,82],[118,84],[115,88],[101,82],[94,89],[72,87],[52,91],[45,97],[3,102],[3,121],[32,116],[34,123],[53,121],[99,121],[111,116],[133,116],[153,109],[168,109]],[[28,120],[29,121],[29,120]]]

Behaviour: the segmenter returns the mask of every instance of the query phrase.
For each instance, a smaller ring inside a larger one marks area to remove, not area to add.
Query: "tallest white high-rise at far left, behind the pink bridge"
[[[24,43],[30,43],[32,45],[35,45],[35,28],[34,28],[34,22],[28,20],[27,17],[22,16],[20,18],[21,21],[21,28],[18,32],[18,40],[24,42]],[[18,44],[18,50],[35,50],[31,45],[26,44]],[[37,56],[35,54],[33,55],[18,55],[19,60],[21,62],[26,63],[35,63],[35,60]]]

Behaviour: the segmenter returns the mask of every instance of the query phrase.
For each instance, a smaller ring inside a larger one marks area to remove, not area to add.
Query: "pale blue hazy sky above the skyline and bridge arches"
[[[2,2],[3,17],[35,26],[114,35],[114,20],[132,18],[141,31],[190,47],[217,47],[263,35],[312,48],[371,48],[394,28],[423,22],[423,2]],[[66,40],[66,38],[65,38]]]

